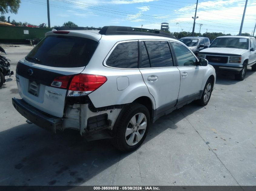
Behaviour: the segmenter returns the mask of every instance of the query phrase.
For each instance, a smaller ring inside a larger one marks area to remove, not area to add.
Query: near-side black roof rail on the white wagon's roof
[[[123,27],[123,26],[105,26],[99,31],[99,34],[103,35],[152,35],[169,37],[176,39],[170,33],[166,33],[159,30],[136,28],[136,27]]]

